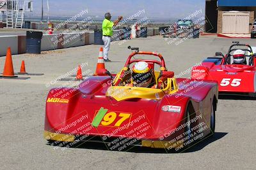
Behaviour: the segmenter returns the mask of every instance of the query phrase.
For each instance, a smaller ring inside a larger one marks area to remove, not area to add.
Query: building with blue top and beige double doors
[[[209,23],[205,25],[207,32],[250,34],[253,20],[256,18],[256,1],[207,0],[205,17]]]

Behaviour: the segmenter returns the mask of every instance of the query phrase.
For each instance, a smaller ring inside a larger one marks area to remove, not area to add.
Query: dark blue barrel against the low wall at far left
[[[27,31],[26,53],[41,53],[41,40],[43,32]]]

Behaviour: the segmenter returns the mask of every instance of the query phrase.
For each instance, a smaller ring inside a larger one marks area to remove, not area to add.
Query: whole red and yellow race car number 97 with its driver
[[[217,83],[174,78],[160,53],[131,49],[120,73],[100,69],[79,87],[49,92],[45,139],[66,147],[84,141],[104,143],[108,150],[179,150],[214,134]]]

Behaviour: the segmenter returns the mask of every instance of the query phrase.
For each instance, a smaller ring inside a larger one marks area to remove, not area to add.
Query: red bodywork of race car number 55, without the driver
[[[256,63],[256,58],[254,59]],[[256,66],[242,64],[220,65],[202,62],[202,66],[193,68],[191,77],[199,80],[218,81],[220,92],[255,93]]]

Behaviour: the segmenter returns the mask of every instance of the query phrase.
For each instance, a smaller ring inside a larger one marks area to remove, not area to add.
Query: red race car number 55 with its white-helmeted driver
[[[218,81],[220,94],[256,95],[256,53],[250,45],[233,42],[227,55],[216,52],[202,66],[193,67],[191,78]]]

